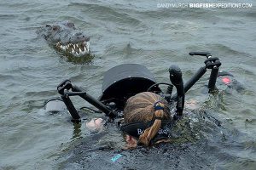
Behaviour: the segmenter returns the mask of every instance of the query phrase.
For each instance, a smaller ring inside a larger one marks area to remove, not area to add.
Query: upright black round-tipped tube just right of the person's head
[[[176,112],[177,116],[183,115],[183,108],[184,108],[184,87],[183,87],[183,75],[182,71],[177,65],[171,65],[169,68],[170,73],[170,80],[172,84],[177,88],[177,105],[176,105]]]

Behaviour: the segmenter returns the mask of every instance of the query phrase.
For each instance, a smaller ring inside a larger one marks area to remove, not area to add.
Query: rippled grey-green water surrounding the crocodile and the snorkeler
[[[158,82],[169,82],[168,67],[179,65],[186,81],[204,61],[189,56],[189,51],[211,52],[221,59],[222,69],[235,75],[245,88],[211,104],[221,121],[242,134],[230,134],[239,147],[234,143],[219,146],[227,161],[216,168],[255,169],[255,7],[157,8],[157,3],[161,2],[0,3],[0,169],[54,169],[60,160],[67,160],[65,150],[88,135],[84,124],[79,132],[73,130],[77,128],[69,121],[70,116],[49,115],[43,110],[45,99],[58,96],[56,86],[62,80],[69,78],[98,97],[104,71],[137,63],[147,66]],[[95,55],[90,62],[70,62],[37,36],[39,26],[57,20],[71,20],[90,36]],[[201,88],[206,82],[207,76],[187,98],[205,105],[209,97]],[[88,105],[76,101],[77,106]],[[111,165],[106,168],[111,169]]]

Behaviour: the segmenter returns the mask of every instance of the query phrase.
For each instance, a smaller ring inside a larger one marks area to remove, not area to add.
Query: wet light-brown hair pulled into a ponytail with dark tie
[[[150,140],[160,130],[162,120],[171,120],[170,110],[165,99],[151,92],[143,92],[129,98],[124,109],[125,123],[154,121],[144,130],[138,143],[148,146]]]

